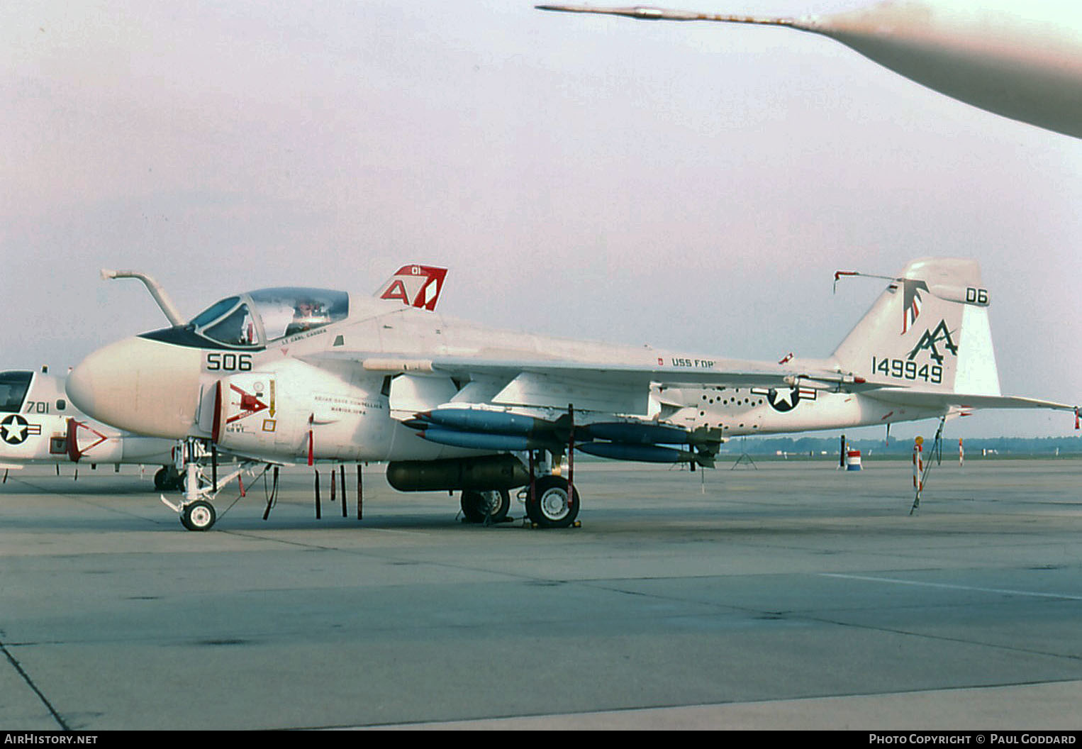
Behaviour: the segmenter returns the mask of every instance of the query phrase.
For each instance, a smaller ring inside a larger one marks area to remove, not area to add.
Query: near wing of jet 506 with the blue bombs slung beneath
[[[391,417],[418,436],[483,450],[576,449],[606,458],[711,465],[720,429],[695,429],[661,419],[663,386],[803,383],[859,386],[852,376],[804,372],[764,363],[643,354],[650,364],[611,360],[359,357],[324,352],[312,364],[358,363],[388,376]]]

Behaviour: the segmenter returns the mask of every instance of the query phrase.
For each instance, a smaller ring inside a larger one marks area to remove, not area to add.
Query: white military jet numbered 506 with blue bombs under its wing
[[[480,518],[505,515],[509,490],[528,486],[530,520],[565,527],[580,505],[576,451],[710,467],[736,435],[1073,408],[1000,394],[991,297],[972,260],[910,263],[829,358],[783,364],[507,332],[405,290],[391,298],[407,304],[381,295],[260,289],[187,324],[159,300],[173,325],[89,356],[68,396],[106,423],[185,441],[176,509],[193,529],[215,518],[207,447],[387,461],[395,488],[459,490]]]

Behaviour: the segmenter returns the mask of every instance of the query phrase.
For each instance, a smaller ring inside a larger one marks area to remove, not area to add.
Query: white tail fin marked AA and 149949
[[[977,261],[914,260],[890,280],[833,359],[868,380],[1000,395],[988,304]]]

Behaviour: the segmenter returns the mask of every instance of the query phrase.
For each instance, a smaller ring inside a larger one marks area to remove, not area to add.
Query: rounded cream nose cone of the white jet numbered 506
[[[87,416],[154,437],[179,439],[195,426],[199,349],[128,338],[88,356],[67,379]]]

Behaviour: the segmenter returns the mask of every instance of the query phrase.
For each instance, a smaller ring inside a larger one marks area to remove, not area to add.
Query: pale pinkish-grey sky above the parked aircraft
[[[4,3],[0,44],[3,369],[164,325],[103,266],[194,315],[421,261],[451,267],[449,315],[776,360],[829,354],[879,293],[832,295],[835,270],[939,254],[982,264],[1004,393],[1082,399],[1082,141],[826,38],[511,0],[105,1]]]

